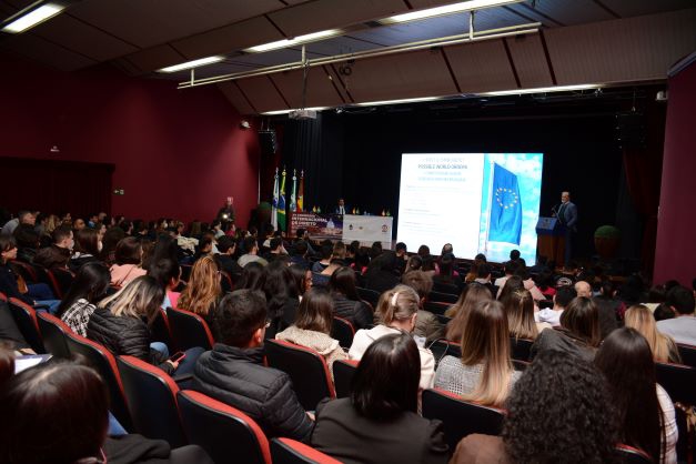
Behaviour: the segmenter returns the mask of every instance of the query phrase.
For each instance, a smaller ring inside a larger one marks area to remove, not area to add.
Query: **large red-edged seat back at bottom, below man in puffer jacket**
[[[215,463],[271,464],[269,441],[246,414],[191,390],[176,396],[189,442]]]

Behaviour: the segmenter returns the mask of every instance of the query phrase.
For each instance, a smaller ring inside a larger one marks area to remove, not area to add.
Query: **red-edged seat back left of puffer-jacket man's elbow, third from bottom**
[[[117,364],[135,431],[148,438],[165,440],[172,447],[188,444],[174,380],[138,357],[118,356]]]

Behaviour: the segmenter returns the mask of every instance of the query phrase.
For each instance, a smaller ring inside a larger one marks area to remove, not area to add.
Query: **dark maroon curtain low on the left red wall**
[[[113,164],[0,158],[0,206],[17,213],[37,209],[73,218],[111,214]]]

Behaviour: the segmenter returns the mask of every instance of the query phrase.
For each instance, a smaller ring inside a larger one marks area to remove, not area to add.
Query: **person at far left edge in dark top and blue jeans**
[[[43,306],[54,313],[60,300],[53,300],[53,292],[44,283],[28,284],[19,278],[10,262],[17,258],[17,243],[12,235],[0,235],[0,292],[10,297],[16,297],[30,306]],[[20,288],[21,285],[21,288]]]

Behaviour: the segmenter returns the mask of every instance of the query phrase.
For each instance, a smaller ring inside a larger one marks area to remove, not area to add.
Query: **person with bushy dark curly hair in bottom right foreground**
[[[613,401],[591,363],[539,353],[507,400],[501,436],[466,436],[450,463],[613,463],[618,440]],[[584,424],[582,433],[577,424]]]

